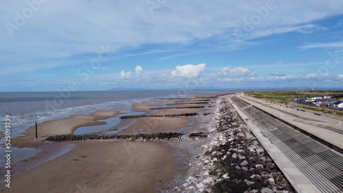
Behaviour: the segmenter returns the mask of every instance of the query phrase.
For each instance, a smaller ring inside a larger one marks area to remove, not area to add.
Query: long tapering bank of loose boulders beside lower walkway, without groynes
[[[199,172],[175,192],[295,192],[226,99],[217,101],[209,131],[193,163]]]

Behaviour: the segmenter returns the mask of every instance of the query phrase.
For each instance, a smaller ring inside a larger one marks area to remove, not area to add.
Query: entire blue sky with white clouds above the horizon
[[[343,89],[343,1],[0,2],[0,92]]]

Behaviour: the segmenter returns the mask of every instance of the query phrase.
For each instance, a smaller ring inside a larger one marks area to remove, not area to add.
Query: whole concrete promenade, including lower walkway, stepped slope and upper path
[[[343,156],[328,145],[342,149],[341,120],[297,111],[242,93],[236,97],[228,101],[242,118],[250,118],[248,127],[298,192],[343,192]],[[305,135],[290,127],[293,124],[309,133]]]

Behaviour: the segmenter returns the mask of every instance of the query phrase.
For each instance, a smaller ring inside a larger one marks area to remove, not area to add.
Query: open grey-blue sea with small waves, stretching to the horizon
[[[130,110],[133,103],[150,101],[155,97],[183,98],[193,94],[218,92],[220,91],[0,92],[0,126],[4,128],[5,115],[10,115],[14,138],[34,125],[35,121],[42,123],[72,114],[89,114],[111,108]],[[130,111],[126,113],[130,114]]]

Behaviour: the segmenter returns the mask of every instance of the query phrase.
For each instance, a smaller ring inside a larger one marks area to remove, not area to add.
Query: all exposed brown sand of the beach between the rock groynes
[[[202,109],[149,110],[150,107],[166,105],[168,102],[137,103],[132,105],[132,110],[154,115],[203,111]],[[45,143],[42,140],[48,136],[70,135],[78,127],[102,125],[104,123],[97,120],[118,114],[120,110],[108,110],[49,120],[38,124],[40,138],[34,138],[35,127],[32,126],[23,133],[24,136],[14,138],[12,142],[18,147],[43,147]],[[189,118],[132,118],[132,124],[116,134],[180,132],[182,128],[191,127],[191,122]],[[86,140],[52,143],[74,146],[71,151],[49,162],[15,175],[12,177],[12,188],[5,188],[3,183],[0,185],[0,190],[3,192],[156,192],[156,187],[173,177],[176,166],[177,157],[173,155],[176,150],[159,142]],[[38,153],[35,156],[40,157],[39,159],[49,159],[43,154]]]

